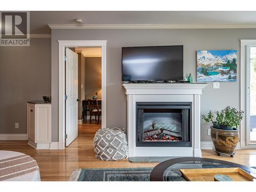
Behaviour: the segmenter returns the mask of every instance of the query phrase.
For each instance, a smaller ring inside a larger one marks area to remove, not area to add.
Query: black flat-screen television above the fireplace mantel
[[[183,79],[183,46],[123,47],[122,80]]]

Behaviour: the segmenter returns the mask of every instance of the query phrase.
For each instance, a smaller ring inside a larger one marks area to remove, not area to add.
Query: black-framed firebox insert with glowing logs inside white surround
[[[136,102],[136,146],[191,146],[190,102]]]

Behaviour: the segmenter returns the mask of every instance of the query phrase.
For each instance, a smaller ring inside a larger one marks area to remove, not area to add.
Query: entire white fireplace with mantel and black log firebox
[[[205,86],[124,83],[129,158],[201,157],[200,96]]]

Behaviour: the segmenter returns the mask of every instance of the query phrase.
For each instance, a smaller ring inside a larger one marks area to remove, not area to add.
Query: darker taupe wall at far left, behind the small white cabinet
[[[26,134],[27,101],[51,95],[51,39],[0,47],[0,59],[0,134]]]

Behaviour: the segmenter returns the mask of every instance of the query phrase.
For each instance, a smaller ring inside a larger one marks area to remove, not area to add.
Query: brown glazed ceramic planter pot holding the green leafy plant
[[[239,141],[239,129],[220,130],[210,126],[210,136],[218,152],[230,154],[234,152]]]

